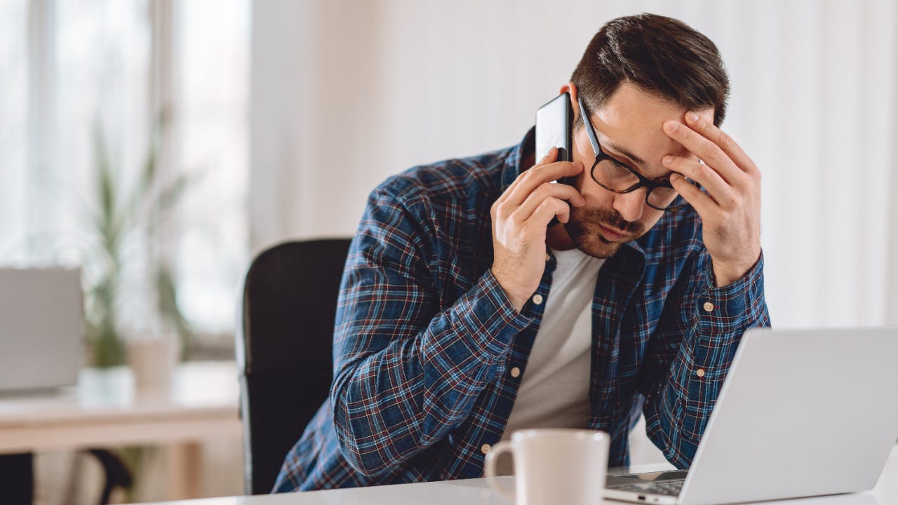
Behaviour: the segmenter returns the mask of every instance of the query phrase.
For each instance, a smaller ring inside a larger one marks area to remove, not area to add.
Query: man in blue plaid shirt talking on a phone
[[[573,162],[534,160],[531,130],[374,190],[330,400],[275,491],[479,477],[533,427],[607,431],[623,465],[641,412],[690,465],[741,335],[770,323],[761,175],[717,128],[728,86],[682,22],[616,19],[561,87]]]

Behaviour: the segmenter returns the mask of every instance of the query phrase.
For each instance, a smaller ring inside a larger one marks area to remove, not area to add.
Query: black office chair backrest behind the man
[[[248,494],[271,492],[284,457],[330,392],[349,239],[288,242],[252,261],[236,354]]]

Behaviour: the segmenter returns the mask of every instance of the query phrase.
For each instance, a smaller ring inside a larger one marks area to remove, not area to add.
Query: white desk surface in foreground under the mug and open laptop
[[[502,477],[512,487],[514,477]],[[602,501],[621,505],[621,501]],[[511,505],[512,501],[489,489],[485,479],[439,483],[398,484],[363,489],[237,496],[207,500],[172,501],[170,505]],[[872,492],[773,501],[777,505],[894,505],[898,503],[898,446]],[[159,505],[159,504],[157,504]]]

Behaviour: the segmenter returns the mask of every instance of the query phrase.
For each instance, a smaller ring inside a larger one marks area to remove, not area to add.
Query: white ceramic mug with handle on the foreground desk
[[[602,431],[516,430],[487,453],[487,482],[518,505],[594,505],[605,489],[608,444]],[[496,461],[506,451],[515,463],[514,493],[496,482]]]

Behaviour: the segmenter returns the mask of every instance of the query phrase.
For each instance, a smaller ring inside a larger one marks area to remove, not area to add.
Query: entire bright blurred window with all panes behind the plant
[[[126,333],[154,328],[142,265],[158,254],[198,347],[232,356],[248,254],[249,31],[249,0],[0,2],[0,264],[79,263],[85,288],[96,282],[97,141],[124,199],[154,146],[162,86],[171,120],[157,171],[190,182],[157,235],[126,234],[119,320]]]

